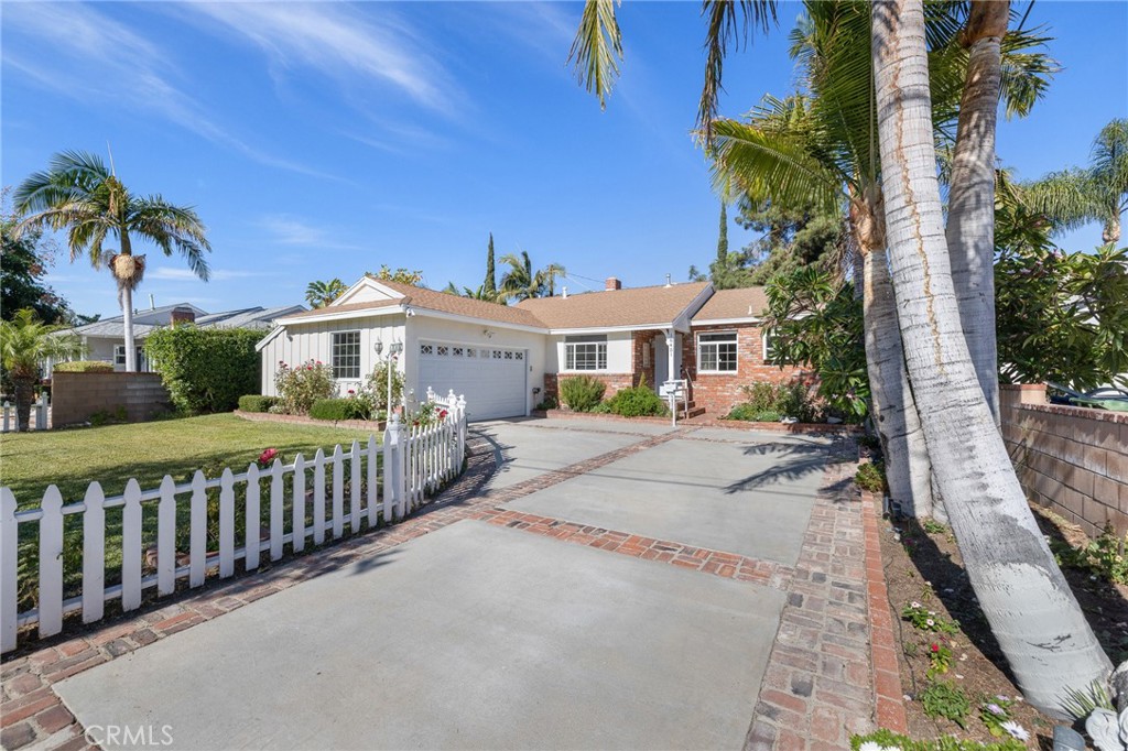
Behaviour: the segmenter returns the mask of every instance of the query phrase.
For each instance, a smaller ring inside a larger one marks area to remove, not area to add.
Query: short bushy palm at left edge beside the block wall
[[[20,432],[27,430],[32,416],[32,390],[39,378],[39,363],[82,355],[77,336],[59,334],[65,328],[39,321],[30,308],[0,321],[0,363],[16,391],[16,426]]]

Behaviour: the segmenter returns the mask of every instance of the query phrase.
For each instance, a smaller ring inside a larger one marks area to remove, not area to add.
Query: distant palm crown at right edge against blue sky
[[[1089,167],[1067,169],[1024,186],[1025,201],[1059,229],[1103,224],[1105,244],[1120,241],[1120,214],[1128,211],[1128,120],[1101,129]]]

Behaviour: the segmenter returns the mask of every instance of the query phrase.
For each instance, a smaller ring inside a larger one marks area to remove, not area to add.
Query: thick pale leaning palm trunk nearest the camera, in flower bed
[[[1019,687],[1061,717],[1111,664],[1034,522],[976,377],[944,239],[923,0],[873,5],[873,62],[898,319],[933,471]]]

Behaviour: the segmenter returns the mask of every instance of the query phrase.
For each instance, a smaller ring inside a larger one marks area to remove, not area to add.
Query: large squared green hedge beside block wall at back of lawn
[[[249,328],[158,328],[146,339],[176,408],[183,413],[230,412],[244,394],[258,390],[263,333]]]

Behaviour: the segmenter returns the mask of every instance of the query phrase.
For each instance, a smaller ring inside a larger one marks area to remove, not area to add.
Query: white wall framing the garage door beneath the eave
[[[488,329],[493,336],[487,337],[483,332]],[[522,332],[511,328],[502,328],[497,324],[469,324],[455,321],[444,318],[433,318],[424,312],[411,318],[407,321],[407,370],[404,374],[404,382],[407,388],[414,388],[418,379],[417,354],[420,342],[437,342],[447,344],[467,344],[472,346],[508,347],[527,351],[528,363],[528,386],[525,395],[527,409],[539,400],[539,396],[534,398],[532,390],[540,389],[537,394],[543,394],[545,388],[545,343],[546,336],[535,332]],[[422,395],[415,395],[420,398]]]

